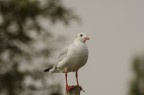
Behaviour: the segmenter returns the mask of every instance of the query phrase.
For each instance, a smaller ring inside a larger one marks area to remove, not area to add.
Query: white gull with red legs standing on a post
[[[73,86],[68,85],[67,73],[69,72],[75,72],[77,86],[79,86],[78,70],[83,67],[88,60],[87,40],[89,40],[89,37],[85,33],[77,34],[73,43],[60,52],[58,62],[53,67],[44,70],[44,72],[49,73],[65,73],[67,91],[73,89]]]

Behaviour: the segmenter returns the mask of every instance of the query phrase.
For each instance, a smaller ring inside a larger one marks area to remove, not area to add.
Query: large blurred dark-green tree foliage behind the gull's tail
[[[55,50],[50,29],[76,19],[61,0],[0,0],[0,95],[61,95],[43,69]]]

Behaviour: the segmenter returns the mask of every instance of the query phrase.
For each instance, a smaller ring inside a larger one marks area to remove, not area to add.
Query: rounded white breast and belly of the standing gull
[[[68,71],[77,71],[79,68],[84,66],[88,59],[88,48],[85,43],[76,42],[71,47],[69,52],[71,59],[68,64]]]

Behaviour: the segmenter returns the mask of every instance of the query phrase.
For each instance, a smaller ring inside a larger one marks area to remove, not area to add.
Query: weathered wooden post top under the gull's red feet
[[[80,95],[81,90],[83,89],[80,86],[74,86],[72,90],[66,91],[66,95]]]

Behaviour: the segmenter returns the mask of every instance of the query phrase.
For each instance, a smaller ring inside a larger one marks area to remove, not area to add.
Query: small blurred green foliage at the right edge
[[[133,60],[134,79],[131,83],[130,95],[144,95],[144,54]]]

